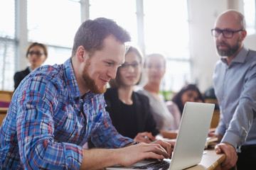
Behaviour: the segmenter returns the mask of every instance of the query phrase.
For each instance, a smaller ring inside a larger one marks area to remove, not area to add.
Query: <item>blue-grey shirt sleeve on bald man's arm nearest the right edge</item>
[[[253,62],[245,76],[245,85],[240,95],[239,103],[235,109],[228,130],[222,142],[228,142],[233,147],[242,145],[250,131],[256,111],[256,62]],[[235,91],[234,91],[235,93]]]

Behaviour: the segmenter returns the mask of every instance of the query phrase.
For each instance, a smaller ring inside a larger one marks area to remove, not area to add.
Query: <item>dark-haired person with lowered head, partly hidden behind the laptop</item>
[[[178,130],[183,108],[187,101],[204,102],[203,96],[196,84],[183,86],[183,88],[174,95],[171,101],[166,101],[167,108],[169,108],[169,111],[174,116],[174,126],[176,130]]]

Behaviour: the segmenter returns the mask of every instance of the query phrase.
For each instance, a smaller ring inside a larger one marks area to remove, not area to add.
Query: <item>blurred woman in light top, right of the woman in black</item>
[[[146,57],[144,62],[144,72],[147,79],[144,89],[139,93],[148,96],[149,104],[153,108],[156,128],[162,132],[174,130],[174,117],[166,107],[164,96],[159,94],[160,83],[164,77],[166,69],[166,58],[161,54],[151,54]],[[162,133],[163,134],[163,133]],[[166,138],[175,138],[175,136],[165,136]]]

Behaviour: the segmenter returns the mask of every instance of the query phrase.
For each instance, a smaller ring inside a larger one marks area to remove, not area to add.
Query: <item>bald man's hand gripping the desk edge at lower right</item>
[[[235,148],[227,142],[222,142],[215,146],[215,152],[217,154],[224,153],[226,155],[225,161],[221,164],[223,170],[231,169],[235,166],[238,160],[238,154],[235,152]]]

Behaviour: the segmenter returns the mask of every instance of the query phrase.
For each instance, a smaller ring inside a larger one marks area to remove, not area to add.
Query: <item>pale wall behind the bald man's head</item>
[[[202,92],[213,86],[213,69],[219,60],[210,30],[220,13],[229,8],[243,13],[242,0],[188,0],[191,75]],[[244,41],[245,46],[252,50],[256,50],[255,42],[255,35],[248,36]]]

